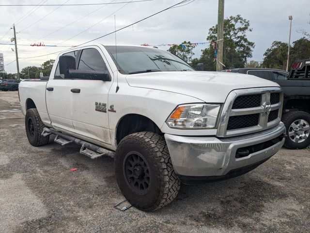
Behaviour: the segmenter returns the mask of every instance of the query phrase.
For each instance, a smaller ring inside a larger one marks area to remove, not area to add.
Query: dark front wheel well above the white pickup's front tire
[[[129,134],[143,131],[161,134],[158,126],[150,118],[139,114],[128,114],[124,116],[118,124],[116,143],[119,144],[119,142]]]

